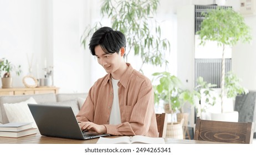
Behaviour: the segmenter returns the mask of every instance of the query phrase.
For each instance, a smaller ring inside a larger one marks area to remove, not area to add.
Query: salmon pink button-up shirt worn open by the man
[[[117,84],[121,124],[109,124],[114,97],[111,74],[106,74],[91,87],[76,119],[104,125],[110,135],[158,137],[151,81],[130,64],[127,66]]]

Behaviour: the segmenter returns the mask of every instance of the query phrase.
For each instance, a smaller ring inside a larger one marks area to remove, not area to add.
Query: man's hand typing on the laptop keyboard
[[[106,127],[104,125],[96,125],[93,122],[81,122],[79,123],[81,130],[95,131],[97,133],[106,133]]]

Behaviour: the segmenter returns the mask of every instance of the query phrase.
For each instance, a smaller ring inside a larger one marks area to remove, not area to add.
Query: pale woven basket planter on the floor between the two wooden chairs
[[[166,138],[183,139],[183,125],[184,120],[178,123],[167,123]]]

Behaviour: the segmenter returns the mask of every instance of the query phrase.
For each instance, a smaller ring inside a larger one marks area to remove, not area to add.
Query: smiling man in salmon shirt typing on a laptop
[[[151,81],[125,63],[124,34],[98,29],[89,49],[106,70],[91,87],[76,116],[81,130],[110,135],[158,137]]]

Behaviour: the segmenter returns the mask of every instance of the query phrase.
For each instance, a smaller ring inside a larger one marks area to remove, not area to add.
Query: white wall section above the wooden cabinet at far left
[[[0,1],[0,58],[7,58],[14,65],[22,65],[21,76],[12,74],[13,86],[23,86],[22,77],[28,74],[28,57],[33,55],[33,71],[42,42],[42,8],[40,1]],[[2,84],[1,84],[2,85]]]

